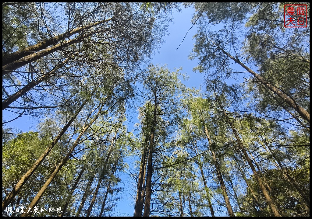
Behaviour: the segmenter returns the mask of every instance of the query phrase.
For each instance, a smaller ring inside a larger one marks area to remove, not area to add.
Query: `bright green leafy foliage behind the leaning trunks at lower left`
[[[3,142],[2,192],[4,194],[8,194],[12,190],[18,180],[32,167],[49,144],[50,140],[47,137],[40,137],[38,132],[33,131],[21,133],[17,137]],[[55,149],[56,150],[49,155],[48,160],[43,162],[36,170],[35,174],[25,183],[21,192],[11,205],[13,209],[21,209],[22,206],[26,208],[34,195],[39,191],[40,185],[46,180],[47,173],[53,169],[56,162],[59,160],[60,148],[56,146]],[[68,175],[66,176],[64,172],[60,174],[55,181],[51,183],[50,188],[45,193],[45,197],[38,206],[46,207],[46,209],[48,207],[56,209],[62,206],[64,197],[66,197],[67,194],[65,183],[67,180],[70,181],[71,177]],[[11,212],[7,214],[11,215]],[[19,214],[17,213],[17,215]],[[57,213],[53,211],[47,213],[47,215],[56,216]]]

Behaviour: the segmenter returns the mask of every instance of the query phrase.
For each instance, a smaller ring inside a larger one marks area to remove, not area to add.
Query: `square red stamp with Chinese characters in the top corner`
[[[308,9],[307,5],[284,5],[285,27],[307,27]]]

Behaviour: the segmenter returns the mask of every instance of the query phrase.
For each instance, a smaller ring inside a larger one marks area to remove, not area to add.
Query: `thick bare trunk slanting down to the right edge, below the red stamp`
[[[214,43],[215,44],[215,43]],[[217,45],[217,44],[215,44]],[[227,53],[224,49],[222,49],[219,45],[217,45],[218,49],[220,49],[225,55],[231,58],[234,62],[239,64],[241,67],[246,69],[249,73],[251,73],[256,79],[260,81],[267,89],[271,90],[275,93],[278,97],[282,98],[290,107],[292,107],[298,114],[304,118],[306,121],[310,123],[310,113],[307,112],[303,107],[299,106],[295,100],[287,95],[282,89],[273,86],[271,83],[268,83],[261,75],[257,74],[250,68],[248,68],[245,64],[243,64],[240,60],[234,58],[232,55]]]

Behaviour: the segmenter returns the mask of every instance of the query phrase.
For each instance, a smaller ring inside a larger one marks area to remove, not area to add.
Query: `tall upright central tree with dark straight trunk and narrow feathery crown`
[[[180,69],[175,72],[169,72],[165,67],[150,66],[144,78],[144,89],[142,97],[146,99],[144,107],[140,108],[142,115],[141,126],[143,133],[142,147],[146,148],[146,185],[144,216],[150,215],[150,203],[152,195],[152,175],[157,165],[161,165],[161,159],[169,150],[173,150],[174,144],[167,144],[174,137],[174,127],[177,126],[179,118],[179,108],[177,102],[183,85],[180,82]],[[144,155],[144,152],[142,152]],[[143,161],[144,159],[142,159]],[[160,163],[159,163],[160,162]],[[143,163],[142,163],[143,166]],[[143,166],[144,167],[144,166]],[[141,175],[144,173],[141,170]],[[142,182],[142,181],[141,181]],[[141,183],[138,186],[138,195],[141,189]],[[136,215],[139,215],[139,209],[142,209],[142,203],[136,201]],[[141,207],[138,207],[140,203]]]

